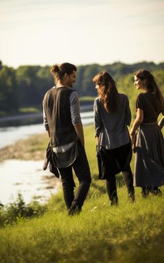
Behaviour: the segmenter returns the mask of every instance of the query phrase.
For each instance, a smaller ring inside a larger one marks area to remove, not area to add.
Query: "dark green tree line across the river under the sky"
[[[36,107],[41,110],[44,93],[54,86],[50,66],[19,66],[12,68],[0,61],[0,115],[15,114],[20,108]],[[159,81],[164,92],[164,62],[139,62],[135,64],[99,65],[90,64],[77,66],[77,82],[74,89],[79,97],[96,97],[97,93],[92,78],[99,71],[108,71],[118,84],[119,92],[124,92],[131,103],[135,99],[133,73],[141,68],[151,71]]]

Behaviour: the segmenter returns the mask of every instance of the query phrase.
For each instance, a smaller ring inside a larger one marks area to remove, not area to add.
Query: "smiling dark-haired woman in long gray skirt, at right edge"
[[[159,125],[157,119],[159,114],[164,115],[164,98],[149,71],[137,71],[134,80],[137,90],[143,90],[137,96],[137,117],[130,132],[135,144],[134,186],[142,188],[143,197],[149,192],[161,195],[159,186],[164,184],[164,139],[161,132],[164,117]]]

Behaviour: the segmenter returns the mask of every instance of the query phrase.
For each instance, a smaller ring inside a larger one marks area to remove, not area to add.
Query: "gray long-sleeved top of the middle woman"
[[[108,113],[99,98],[94,101],[95,137],[98,137],[98,145],[105,149],[119,148],[130,142],[127,125],[131,124],[131,110],[128,97],[120,93],[119,96],[119,113]]]

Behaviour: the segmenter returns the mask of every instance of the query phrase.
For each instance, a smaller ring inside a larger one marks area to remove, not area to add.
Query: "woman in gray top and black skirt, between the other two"
[[[135,200],[133,174],[130,167],[132,149],[128,128],[131,110],[128,98],[118,93],[115,81],[102,71],[94,79],[98,98],[94,101],[94,125],[97,145],[98,179],[107,180],[111,205],[118,203],[115,175],[122,171],[128,197]]]

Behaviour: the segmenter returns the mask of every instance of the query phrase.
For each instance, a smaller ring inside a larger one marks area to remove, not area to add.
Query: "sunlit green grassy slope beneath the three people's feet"
[[[60,191],[42,216],[0,229],[1,263],[163,262],[164,196],[143,199],[136,188],[131,203],[123,186],[118,207],[111,207],[105,181],[97,180],[93,126],[85,127],[85,147],[92,186],[81,214],[67,215]]]

